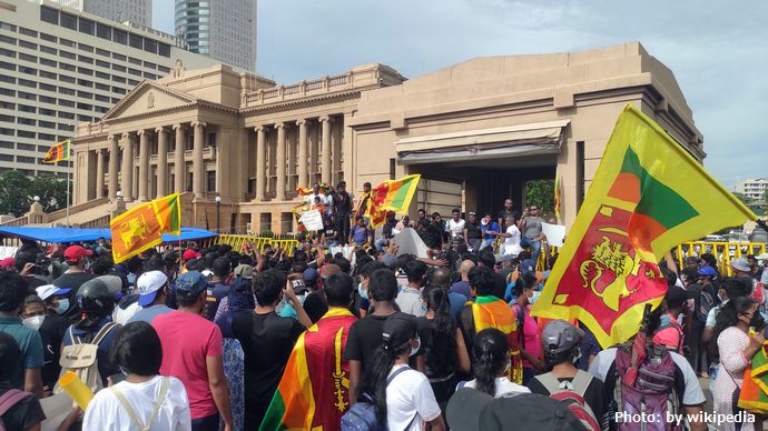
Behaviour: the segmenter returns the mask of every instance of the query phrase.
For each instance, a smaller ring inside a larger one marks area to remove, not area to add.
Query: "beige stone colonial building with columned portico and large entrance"
[[[360,196],[366,181],[421,173],[413,211],[495,213],[508,197],[524,203],[526,181],[559,174],[571,224],[627,103],[706,156],[673,74],[637,42],[477,58],[412,80],[383,64],[291,86],[253,79],[217,67],[146,81],[79,124],[76,203],[179,191],[183,223],[204,227],[219,196],[223,230],[289,232],[296,187],[316,181]]]

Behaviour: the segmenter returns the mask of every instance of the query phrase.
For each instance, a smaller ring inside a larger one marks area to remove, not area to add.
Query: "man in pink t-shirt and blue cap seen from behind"
[[[207,288],[208,282],[198,271],[181,274],[176,280],[178,310],[156,317],[152,327],[164,352],[160,374],[173,375],[184,383],[191,429],[218,430],[221,419],[224,430],[230,431],[233,421],[221,360],[221,331],[200,315]]]

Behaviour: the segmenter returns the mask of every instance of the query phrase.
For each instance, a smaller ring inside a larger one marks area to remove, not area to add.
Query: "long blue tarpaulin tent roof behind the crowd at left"
[[[99,238],[111,238],[109,229],[77,228],[0,228],[0,235],[18,237],[42,242],[81,242],[96,241]],[[197,228],[181,228],[180,235],[165,233],[164,242],[191,241],[216,237],[216,233]]]

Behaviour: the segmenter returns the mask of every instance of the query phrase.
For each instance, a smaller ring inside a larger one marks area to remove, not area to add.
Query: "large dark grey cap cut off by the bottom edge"
[[[561,402],[539,393],[513,393],[494,399],[474,389],[463,388],[451,397],[446,418],[451,430],[536,431],[584,430],[584,425]]]

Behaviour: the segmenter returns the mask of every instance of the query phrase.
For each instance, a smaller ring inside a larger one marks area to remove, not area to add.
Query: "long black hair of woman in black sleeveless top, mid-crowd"
[[[426,308],[435,313],[425,359],[430,373],[435,377],[450,375],[456,367],[456,323],[451,315],[447,295],[436,284],[427,284],[422,293]]]

